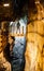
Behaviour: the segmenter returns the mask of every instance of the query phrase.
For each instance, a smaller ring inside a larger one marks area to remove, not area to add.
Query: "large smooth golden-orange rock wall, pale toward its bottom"
[[[44,20],[35,20],[27,26],[25,71],[44,71]]]

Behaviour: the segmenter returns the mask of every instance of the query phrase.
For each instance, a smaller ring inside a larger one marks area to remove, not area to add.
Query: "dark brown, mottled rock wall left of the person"
[[[3,50],[8,44],[8,31],[5,28],[6,25],[4,25],[4,23],[5,22],[3,22],[0,28],[0,71],[11,71],[11,64],[5,59],[4,54],[3,54]]]

